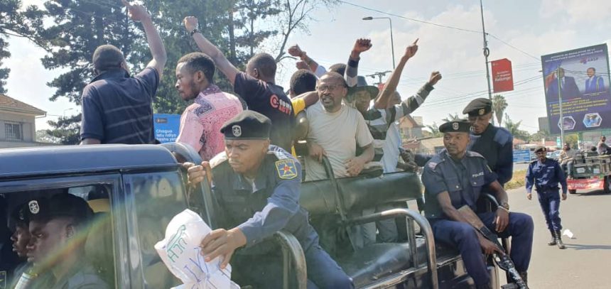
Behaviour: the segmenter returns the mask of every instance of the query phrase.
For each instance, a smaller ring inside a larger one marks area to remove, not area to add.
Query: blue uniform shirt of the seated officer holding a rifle
[[[422,172],[425,216],[428,219],[447,219],[437,200],[441,192],[448,192],[456,209],[468,205],[475,211],[482,187],[495,180],[497,175],[479,153],[467,151],[463,158],[455,161],[444,148],[426,163]]]

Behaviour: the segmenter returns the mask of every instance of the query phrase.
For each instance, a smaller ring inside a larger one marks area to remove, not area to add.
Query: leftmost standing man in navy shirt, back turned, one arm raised
[[[153,97],[166,65],[166,48],[144,6],[123,4],[131,19],[142,23],[153,60],[136,77],[130,77],[119,48],[96,48],[93,66],[97,76],[82,92],[81,144],[155,141]]]

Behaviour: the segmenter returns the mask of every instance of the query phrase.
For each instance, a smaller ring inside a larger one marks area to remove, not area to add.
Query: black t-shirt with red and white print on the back
[[[234,92],[244,99],[248,109],[271,119],[271,144],[291,151],[295,115],[284,89],[241,72],[235,76]]]

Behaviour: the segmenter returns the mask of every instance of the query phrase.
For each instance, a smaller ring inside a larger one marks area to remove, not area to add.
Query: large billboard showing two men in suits
[[[550,133],[560,133],[561,126],[566,133],[611,127],[606,44],[543,55],[541,65]]]

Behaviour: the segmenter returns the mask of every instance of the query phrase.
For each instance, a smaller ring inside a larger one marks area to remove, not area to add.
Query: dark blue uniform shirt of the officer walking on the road
[[[556,191],[558,183],[562,185],[562,193],[566,194],[566,175],[556,160],[546,158],[543,163],[535,160],[526,170],[526,191],[537,192]]]

